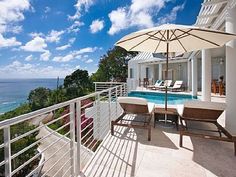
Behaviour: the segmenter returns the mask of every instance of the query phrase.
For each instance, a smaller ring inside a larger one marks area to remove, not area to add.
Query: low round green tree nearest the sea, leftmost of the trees
[[[44,87],[38,87],[30,91],[28,96],[29,105],[32,111],[50,106],[51,90]]]

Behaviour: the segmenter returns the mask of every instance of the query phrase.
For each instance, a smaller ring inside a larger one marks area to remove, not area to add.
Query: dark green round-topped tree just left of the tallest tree
[[[83,96],[92,91],[93,85],[87,70],[78,69],[64,79],[68,99]]]

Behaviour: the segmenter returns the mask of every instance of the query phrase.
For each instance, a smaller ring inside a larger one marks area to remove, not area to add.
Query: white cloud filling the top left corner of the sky
[[[23,12],[30,10],[29,0],[1,0],[0,1],[0,33],[10,31],[9,26],[24,20]]]

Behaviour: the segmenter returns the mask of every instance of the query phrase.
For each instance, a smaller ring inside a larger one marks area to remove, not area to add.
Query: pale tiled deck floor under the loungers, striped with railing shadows
[[[184,137],[174,128],[117,127],[84,168],[86,177],[236,177],[233,143]]]

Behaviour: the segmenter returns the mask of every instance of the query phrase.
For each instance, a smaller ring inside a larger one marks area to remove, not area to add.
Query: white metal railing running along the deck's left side
[[[35,176],[39,174],[39,170],[42,177],[56,176],[58,173],[61,176],[78,176],[110,131],[111,120],[121,113],[117,97],[126,95],[127,84],[122,83],[0,122],[3,135],[0,149],[4,150],[0,176],[20,176],[22,171],[29,169],[31,163],[38,165],[31,167],[31,171],[25,176]],[[34,126],[13,135],[13,129],[23,129],[23,123]],[[22,149],[13,149],[14,143],[27,140],[25,138],[29,136],[37,138],[30,144],[27,142]],[[33,154],[31,151],[28,158],[29,151],[37,148],[38,151]],[[42,156],[43,161],[39,159]],[[25,160],[22,164],[15,165],[18,158]]]

